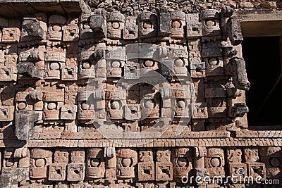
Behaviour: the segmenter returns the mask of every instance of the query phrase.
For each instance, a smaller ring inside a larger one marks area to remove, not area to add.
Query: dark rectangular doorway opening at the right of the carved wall
[[[246,92],[249,126],[282,125],[280,41],[280,37],[244,37],[243,57],[251,82]]]

